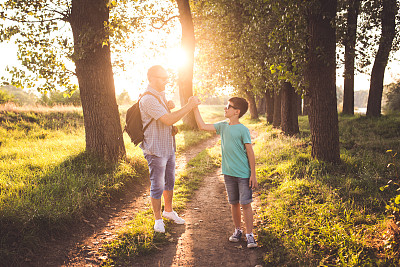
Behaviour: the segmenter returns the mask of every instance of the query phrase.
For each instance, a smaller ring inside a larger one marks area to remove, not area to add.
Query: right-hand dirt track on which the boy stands
[[[253,207],[257,203],[254,203]],[[183,214],[185,225],[167,229],[172,242],[159,251],[135,259],[129,266],[257,266],[262,265],[262,248],[248,249],[246,241],[231,243],[230,207],[221,169],[204,178]]]

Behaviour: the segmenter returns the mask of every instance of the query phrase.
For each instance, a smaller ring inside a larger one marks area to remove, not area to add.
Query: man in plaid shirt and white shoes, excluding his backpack
[[[165,226],[162,217],[171,219],[177,224],[184,224],[172,209],[172,197],[175,184],[175,138],[173,124],[182,119],[194,107],[200,104],[196,97],[189,98],[181,109],[170,112],[165,98],[165,86],[168,83],[168,73],[160,65],[151,67],[147,72],[149,85],[139,103],[143,125],[147,127],[144,140],[140,147],[147,160],[150,171],[150,197],[155,223],[154,231],[164,233]],[[158,98],[158,99],[156,99]],[[152,120],[153,119],[153,120]],[[164,211],[161,215],[161,196],[164,197]]]

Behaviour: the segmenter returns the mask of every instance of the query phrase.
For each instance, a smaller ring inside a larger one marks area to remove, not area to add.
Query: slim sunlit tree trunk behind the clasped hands
[[[187,65],[179,68],[179,98],[181,106],[187,104],[189,97],[193,96],[193,65],[195,37],[192,14],[188,0],[176,0],[179,9],[179,21],[182,27],[182,48],[187,55]],[[183,117],[183,123],[192,129],[197,129],[193,111]]]

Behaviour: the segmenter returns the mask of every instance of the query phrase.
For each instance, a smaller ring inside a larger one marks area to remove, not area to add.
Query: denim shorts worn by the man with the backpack
[[[160,199],[164,190],[171,191],[175,185],[175,154],[157,157],[144,154],[150,172],[150,196]]]

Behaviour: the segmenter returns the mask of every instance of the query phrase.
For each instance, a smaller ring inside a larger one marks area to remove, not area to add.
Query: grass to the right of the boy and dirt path
[[[310,157],[306,117],[300,118],[299,137],[264,126],[255,140],[262,186],[258,238],[268,248],[267,266],[399,263],[382,238],[388,224],[385,206],[396,193],[379,188],[398,180],[386,167],[395,160],[386,151],[400,151],[400,116],[340,116],[339,121],[337,165]]]

